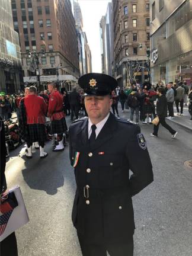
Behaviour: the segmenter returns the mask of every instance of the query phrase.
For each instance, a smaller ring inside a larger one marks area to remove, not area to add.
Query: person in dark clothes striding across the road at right
[[[177,135],[177,132],[169,126],[166,121],[165,117],[167,117],[167,98],[165,96],[165,89],[164,88],[158,88],[157,94],[159,96],[158,101],[156,103],[156,116],[159,117],[159,123],[158,125],[154,125],[153,127],[153,133],[151,133],[150,136],[152,137],[158,137],[158,130],[159,130],[159,124],[165,127],[170,133],[172,139]]]

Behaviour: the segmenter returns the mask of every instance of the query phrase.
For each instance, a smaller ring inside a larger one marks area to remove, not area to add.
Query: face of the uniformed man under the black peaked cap
[[[113,100],[110,99],[110,95],[105,96],[86,96],[85,108],[88,113],[88,117],[91,120],[96,120],[99,123],[110,112]]]

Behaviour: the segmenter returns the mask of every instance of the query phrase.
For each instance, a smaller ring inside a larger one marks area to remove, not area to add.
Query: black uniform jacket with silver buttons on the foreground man
[[[126,239],[135,229],[132,196],[153,181],[139,126],[110,113],[90,147],[88,119],[81,119],[71,124],[69,142],[71,165],[76,165],[73,225],[91,241]],[[130,177],[129,169],[133,172]]]

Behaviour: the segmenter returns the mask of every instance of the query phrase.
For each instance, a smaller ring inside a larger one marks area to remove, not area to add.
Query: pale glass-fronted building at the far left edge
[[[13,94],[22,89],[20,43],[12,23],[11,1],[0,0],[0,91]]]

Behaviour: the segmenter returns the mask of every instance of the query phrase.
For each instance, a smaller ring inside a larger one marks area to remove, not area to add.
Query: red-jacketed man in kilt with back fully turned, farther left
[[[27,124],[27,158],[32,157],[33,142],[39,142],[40,158],[47,156],[44,152],[44,142],[46,141],[45,116],[47,106],[43,98],[37,96],[37,89],[34,86],[29,88],[28,95],[24,97],[24,107]]]

